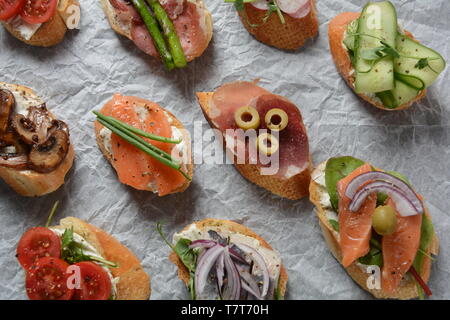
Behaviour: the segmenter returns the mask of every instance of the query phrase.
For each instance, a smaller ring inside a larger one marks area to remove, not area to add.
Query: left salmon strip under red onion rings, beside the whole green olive
[[[365,256],[370,250],[372,234],[372,215],[377,204],[377,195],[371,194],[357,212],[348,209],[351,199],[345,196],[345,190],[353,178],[372,171],[366,163],[337,183],[339,193],[339,234],[342,252],[342,265],[348,267],[356,259]]]

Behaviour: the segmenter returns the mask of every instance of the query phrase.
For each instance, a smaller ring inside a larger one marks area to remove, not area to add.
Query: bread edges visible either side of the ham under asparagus
[[[127,37],[128,39],[133,41],[133,38],[131,37],[131,25],[126,25],[120,21],[119,17],[117,16],[116,11],[114,10],[113,6],[111,5],[110,0],[100,0],[100,2],[102,3],[103,11],[105,12],[106,17],[108,18],[111,28],[118,34],[120,34],[124,37]],[[203,14],[205,15],[204,27],[205,27],[207,41],[205,43],[205,46],[201,50],[199,50],[199,53],[197,55],[186,56],[186,60],[188,62],[201,56],[201,54],[208,47],[209,42],[212,39],[212,34],[213,34],[213,24],[212,24],[211,12],[209,12],[209,10],[206,8],[205,4],[203,3],[203,0],[195,0],[192,2],[195,2],[197,4],[197,6],[203,10]]]

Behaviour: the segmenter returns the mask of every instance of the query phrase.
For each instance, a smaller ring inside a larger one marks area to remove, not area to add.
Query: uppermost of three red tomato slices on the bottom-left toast
[[[60,255],[61,240],[49,228],[35,227],[29,229],[20,238],[17,246],[17,259],[25,269],[28,269],[39,258],[59,258]]]

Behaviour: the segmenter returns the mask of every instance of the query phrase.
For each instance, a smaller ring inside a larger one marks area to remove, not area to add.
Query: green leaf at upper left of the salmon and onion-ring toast
[[[330,202],[333,209],[337,212],[339,197],[337,193],[336,184],[342,178],[348,176],[355,169],[364,164],[364,161],[350,157],[330,158],[325,167],[325,185],[328,194],[330,195]]]

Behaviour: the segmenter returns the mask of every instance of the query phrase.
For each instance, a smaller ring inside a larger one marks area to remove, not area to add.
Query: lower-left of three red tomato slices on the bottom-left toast
[[[70,300],[73,290],[67,287],[69,264],[64,260],[44,257],[27,271],[25,287],[31,300]]]

